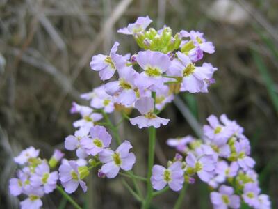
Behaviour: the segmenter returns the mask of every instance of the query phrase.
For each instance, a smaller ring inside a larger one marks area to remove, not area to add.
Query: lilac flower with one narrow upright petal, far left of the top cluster
[[[116,54],[118,46],[119,43],[115,42],[109,56],[103,54],[92,56],[90,67],[92,70],[99,71],[101,80],[111,79],[116,69],[122,68],[126,64],[124,57]]]

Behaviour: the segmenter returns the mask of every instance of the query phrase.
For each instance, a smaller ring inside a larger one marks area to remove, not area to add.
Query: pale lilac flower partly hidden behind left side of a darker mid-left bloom
[[[81,147],[80,141],[83,138],[88,138],[88,131],[87,129],[81,129],[74,132],[74,135],[70,135],[65,138],[65,148],[67,150],[76,150],[77,157],[85,158],[88,157],[85,150]]]

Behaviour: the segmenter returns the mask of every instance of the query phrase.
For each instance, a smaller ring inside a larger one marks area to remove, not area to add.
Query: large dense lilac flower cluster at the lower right
[[[252,208],[270,208],[269,197],[260,194],[253,169],[255,161],[250,157],[250,141],[243,134],[243,127],[225,114],[220,116],[220,121],[213,115],[207,121],[202,139],[187,136],[167,140],[167,145],[179,153],[167,169],[153,167],[154,189],[163,189],[168,183],[174,191],[180,190],[183,181],[193,183],[196,174],[210,187],[218,189],[211,192],[214,208],[240,208],[240,201]]]

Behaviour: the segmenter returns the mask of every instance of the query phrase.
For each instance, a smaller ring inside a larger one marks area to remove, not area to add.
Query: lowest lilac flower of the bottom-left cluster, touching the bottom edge
[[[40,199],[44,195],[42,188],[33,189],[27,195],[28,198],[20,202],[22,209],[38,209],[42,206]]]

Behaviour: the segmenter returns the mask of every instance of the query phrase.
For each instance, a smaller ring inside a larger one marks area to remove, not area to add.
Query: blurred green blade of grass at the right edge
[[[265,63],[263,62],[263,59],[257,52],[252,50],[252,57],[254,59],[254,62],[256,64],[256,67],[259,70],[259,73],[261,77],[263,78],[263,83],[265,84],[265,87],[268,90],[268,94],[270,95],[270,99],[272,101],[273,106],[275,107],[275,111],[278,115],[278,95],[275,93],[275,84],[272,81],[271,75],[268,71],[268,68],[266,67]]]

